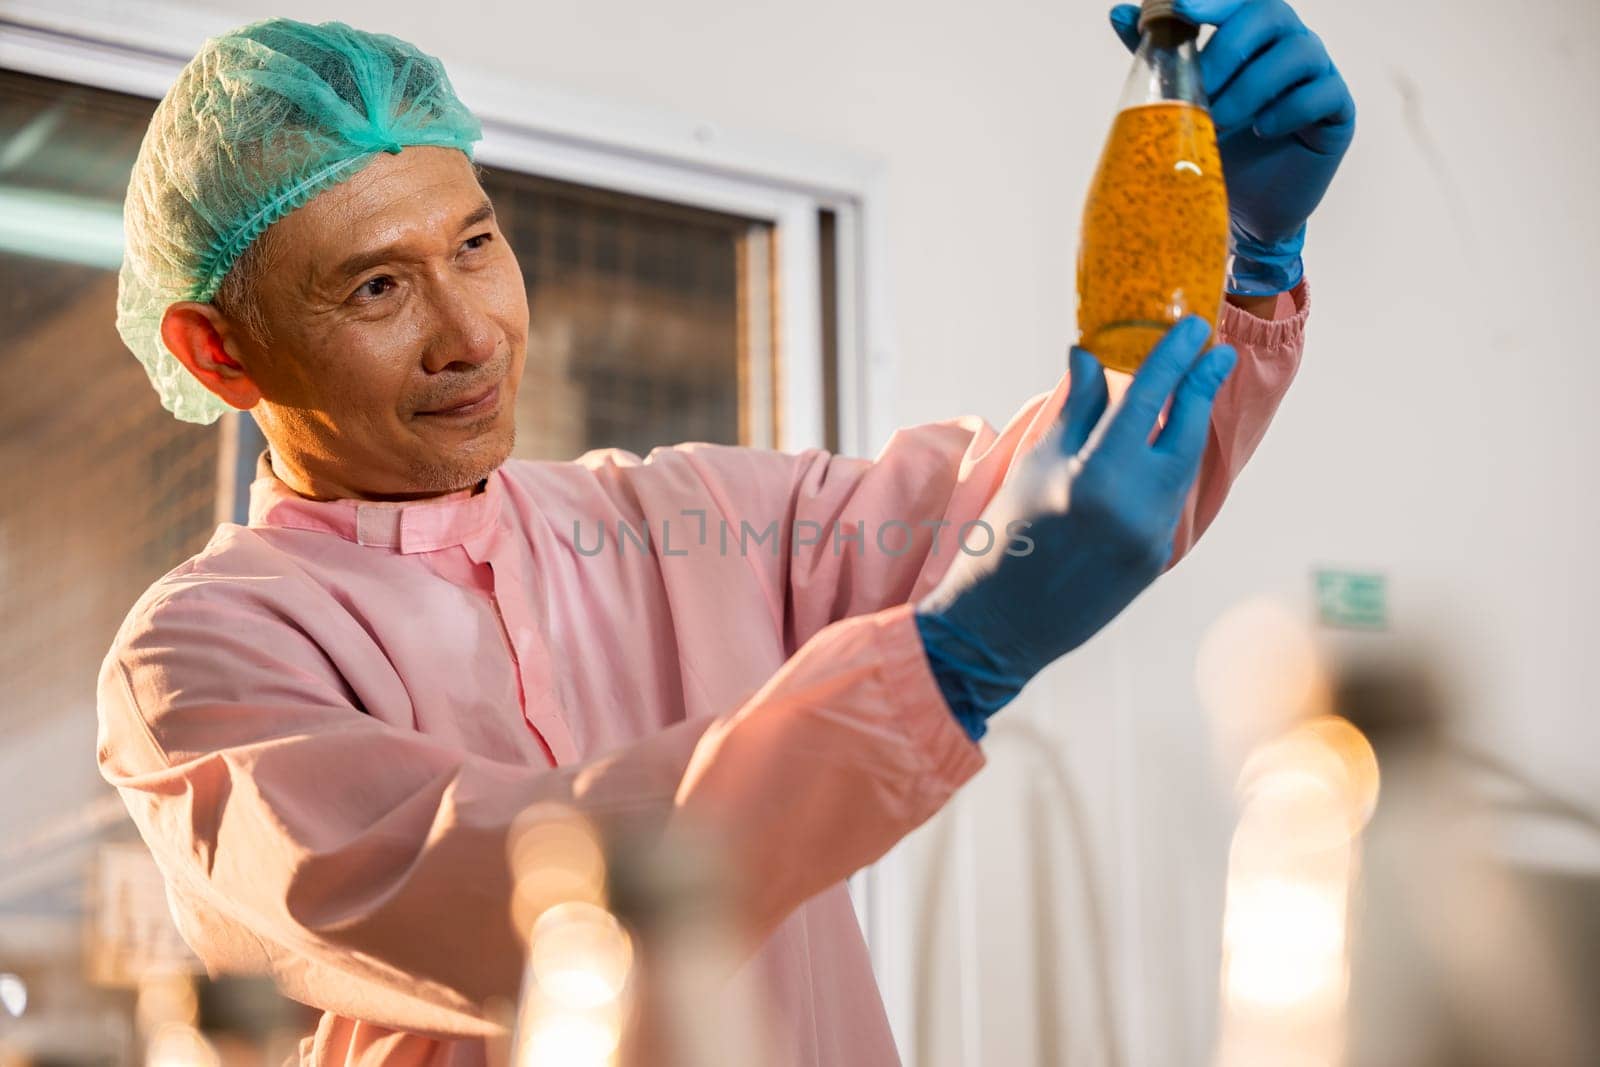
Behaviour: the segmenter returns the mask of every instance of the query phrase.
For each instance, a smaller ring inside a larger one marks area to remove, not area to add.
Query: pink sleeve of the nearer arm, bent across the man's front
[[[99,721],[101,771],[210,968],[267,971],[304,1003],[434,1037],[491,1032],[483,1003],[515,993],[507,837],[534,801],[602,825],[710,822],[738,869],[773,875],[744,901],[776,921],[982,763],[909,609],[826,629],[723,718],[533,769],[362,713],[248,582],[158,584],[106,657]]]

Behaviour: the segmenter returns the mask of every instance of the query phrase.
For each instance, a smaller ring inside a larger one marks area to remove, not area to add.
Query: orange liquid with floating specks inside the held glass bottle
[[[1078,344],[1133,373],[1184,315],[1216,328],[1227,186],[1211,115],[1194,104],[1117,115],[1083,208]]]

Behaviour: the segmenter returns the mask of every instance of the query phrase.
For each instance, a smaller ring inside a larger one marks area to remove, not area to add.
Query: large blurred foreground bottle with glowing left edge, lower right
[[[1493,832],[1530,805],[1595,817],[1464,741],[1437,651],[1325,638],[1256,600],[1200,648],[1240,768],[1218,1064],[1600,1064],[1581,1008],[1600,1001],[1600,883],[1510,864]]]

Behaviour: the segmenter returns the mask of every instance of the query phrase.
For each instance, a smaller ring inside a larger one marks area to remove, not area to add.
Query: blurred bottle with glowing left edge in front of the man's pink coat
[[[760,1005],[728,869],[698,835],[600,830],[539,805],[512,840],[514,917],[528,931],[510,1067],[746,1067]]]

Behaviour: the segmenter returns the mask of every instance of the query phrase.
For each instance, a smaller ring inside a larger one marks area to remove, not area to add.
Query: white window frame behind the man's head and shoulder
[[[240,21],[229,13],[163,0],[80,0],[67,6],[6,0],[0,8],[0,67],[158,99],[198,46]],[[478,162],[653,197],[770,224],[774,246],[776,366],[773,443],[822,448],[824,338],[821,213],[832,214],[835,250],[834,368],[837,450],[874,454],[894,429],[896,352],[888,315],[888,230],[880,162],[694,115],[600,101],[469,59],[442,56],[462,101],[483,123]],[[245,522],[261,438],[251,419],[224,422],[218,518]],[[226,499],[230,498],[230,499]],[[851,880],[890,1022],[915,1061],[909,926],[914,875],[890,853]]]

